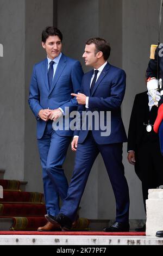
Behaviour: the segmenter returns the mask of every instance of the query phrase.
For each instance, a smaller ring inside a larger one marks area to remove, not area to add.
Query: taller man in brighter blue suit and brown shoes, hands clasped
[[[64,126],[62,130],[54,131],[52,123],[65,115],[66,107],[70,112],[77,109],[78,102],[71,93],[79,92],[83,70],[77,60],[61,52],[62,34],[59,29],[47,27],[42,32],[42,47],[46,50],[47,58],[34,65],[28,102],[37,120],[47,214],[55,216],[59,213],[59,196],[62,200],[67,196],[68,183],[62,164],[73,131],[64,129]],[[57,225],[48,222],[38,230],[57,228]]]

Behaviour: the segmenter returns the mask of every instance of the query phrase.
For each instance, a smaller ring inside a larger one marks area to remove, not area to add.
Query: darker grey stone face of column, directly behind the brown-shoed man
[[[28,191],[43,191],[42,168],[36,140],[36,120],[28,106],[28,95],[33,65],[46,58],[46,52],[41,45],[41,34],[45,27],[53,26],[53,0],[26,0],[25,14],[24,180],[28,181]]]

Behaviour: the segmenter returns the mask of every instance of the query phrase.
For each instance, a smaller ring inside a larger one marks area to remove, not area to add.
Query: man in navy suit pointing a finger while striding
[[[107,112],[110,111],[111,134],[103,136],[101,125],[96,130],[97,121],[92,122],[91,129],[85,126],[85,130],[74,133],[71,145],[77,153],[67,198],[59,215],[45,216],[65,230],[72,227],[93,162],[101,153],[116,198],[116,221],[104,231],[129,231],[129,192],[122,164],[122,144],[127,142],[127,136],[121,118],[126,74],[107,62],[109,56],[110,46],[104,39],[92,38],[86,42],[83,58],[93,70],[84,75],[81,93],[72,95],[76,96],[81,115],[82,111],[97,111],[99,115],[103,111],[106,124]]]

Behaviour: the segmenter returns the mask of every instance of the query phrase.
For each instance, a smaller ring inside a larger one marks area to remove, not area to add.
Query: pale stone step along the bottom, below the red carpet
[[[14,231],[15,232],[15,231]],[[88,245],[87,252],[110,253],[108,245],[163,245],[163,238],[156,236],[99,236],[99,235],[0,235],[0,245],[56,245],[69,246],[67,253],[73,245],[79,245],[76,252],[84,252],[81,245]],[[96,247],[99,246],[99,247]],[[58,249],[60,251],[58,251]],[[99,251],[101,249],[101,251]],[[54,252],[64,252],[64,247],[54,248]],[[78,251],[77,251],[78,250]],[[82,251],[83,250],[83,251]],[[90,251],[91,250],[91,251]],[[71,252],[71,254],[73,254]]]

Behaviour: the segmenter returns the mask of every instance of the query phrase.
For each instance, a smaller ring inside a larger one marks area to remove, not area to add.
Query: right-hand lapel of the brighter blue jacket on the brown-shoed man
[[[55,71],[55,75],[53,78],[53,85],[51,87],[51,90],[49,92],[49,94],[51,94],[52,90],[54,89],[57,81],[59,80],[60,75],[62,74],[62,71],[64,70],[66,66],[66,56],[62,53],[62,56],[59,60],[58,66],[57,66],[57,70]]]

